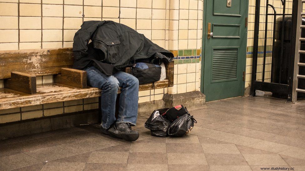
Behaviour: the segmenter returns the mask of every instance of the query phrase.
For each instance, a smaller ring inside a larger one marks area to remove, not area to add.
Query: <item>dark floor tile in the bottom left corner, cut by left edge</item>
[[[24,153],[19,153],[15,155],[10,155],[6,157],[0,158],[0,170],[10,170],[10,169],[17,169],[33,164],[41,163],[41,161],[28,156]]]

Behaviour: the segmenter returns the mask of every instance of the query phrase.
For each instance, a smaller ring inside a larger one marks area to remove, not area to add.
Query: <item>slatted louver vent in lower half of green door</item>
[[[214,49],[212,81],[236,78],[237,49]]]

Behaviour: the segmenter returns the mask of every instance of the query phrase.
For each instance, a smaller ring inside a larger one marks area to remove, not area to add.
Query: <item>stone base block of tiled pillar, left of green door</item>
[[[205,95],[200,91],[181,93],[181,94],[164,94],[164,107],[174,107],[182,104],[189,111],[206,108]]]

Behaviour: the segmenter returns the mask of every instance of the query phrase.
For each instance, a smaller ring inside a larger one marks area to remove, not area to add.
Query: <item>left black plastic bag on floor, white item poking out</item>
[[[145,122],[145,128],[149,129],[152,135],[163,137],[167,136],[168,128],[171,125],[171,122],[160,115],[160,113],[162,114],[162,112],[166,111],[167,109],[168,108],[153,111],[148,120]]]

